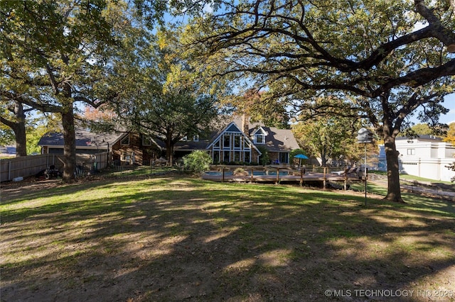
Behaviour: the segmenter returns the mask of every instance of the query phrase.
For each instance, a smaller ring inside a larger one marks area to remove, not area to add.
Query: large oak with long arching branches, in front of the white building
[[[385,142],[386,198],[402,201],[395,137],[418,108],[432,123],[445,110],[453,15],[446,1],[222,1],[188,36],[200,66],[267,87],[298,113],[368,118]]]

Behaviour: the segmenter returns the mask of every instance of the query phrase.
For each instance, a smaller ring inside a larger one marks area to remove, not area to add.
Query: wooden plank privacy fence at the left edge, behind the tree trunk
[[[0,160],[0,181],[11,181],[16,177],[30,177],[55,165],[55,169],[63,170],[63,155],[44,154],[15,157]],[[107,153],[95,155],[76,155],[76,163],[84,167],[104,169],[107,167]]]

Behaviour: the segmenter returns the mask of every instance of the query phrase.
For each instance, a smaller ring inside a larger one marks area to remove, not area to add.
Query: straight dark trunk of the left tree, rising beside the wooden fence
[[[73,104],[68,106],[68,110],[62,113],[63,124],[63,156],[65,162],[63,164],[63,181],[69,182],[75,178],[76,169],[76,135],[74,123]]]

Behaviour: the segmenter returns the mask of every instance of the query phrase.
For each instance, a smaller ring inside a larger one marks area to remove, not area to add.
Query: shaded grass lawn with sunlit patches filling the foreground
[[[404,197],[183,177],[5,186],[0,299],[455,301],[455,203]]]

